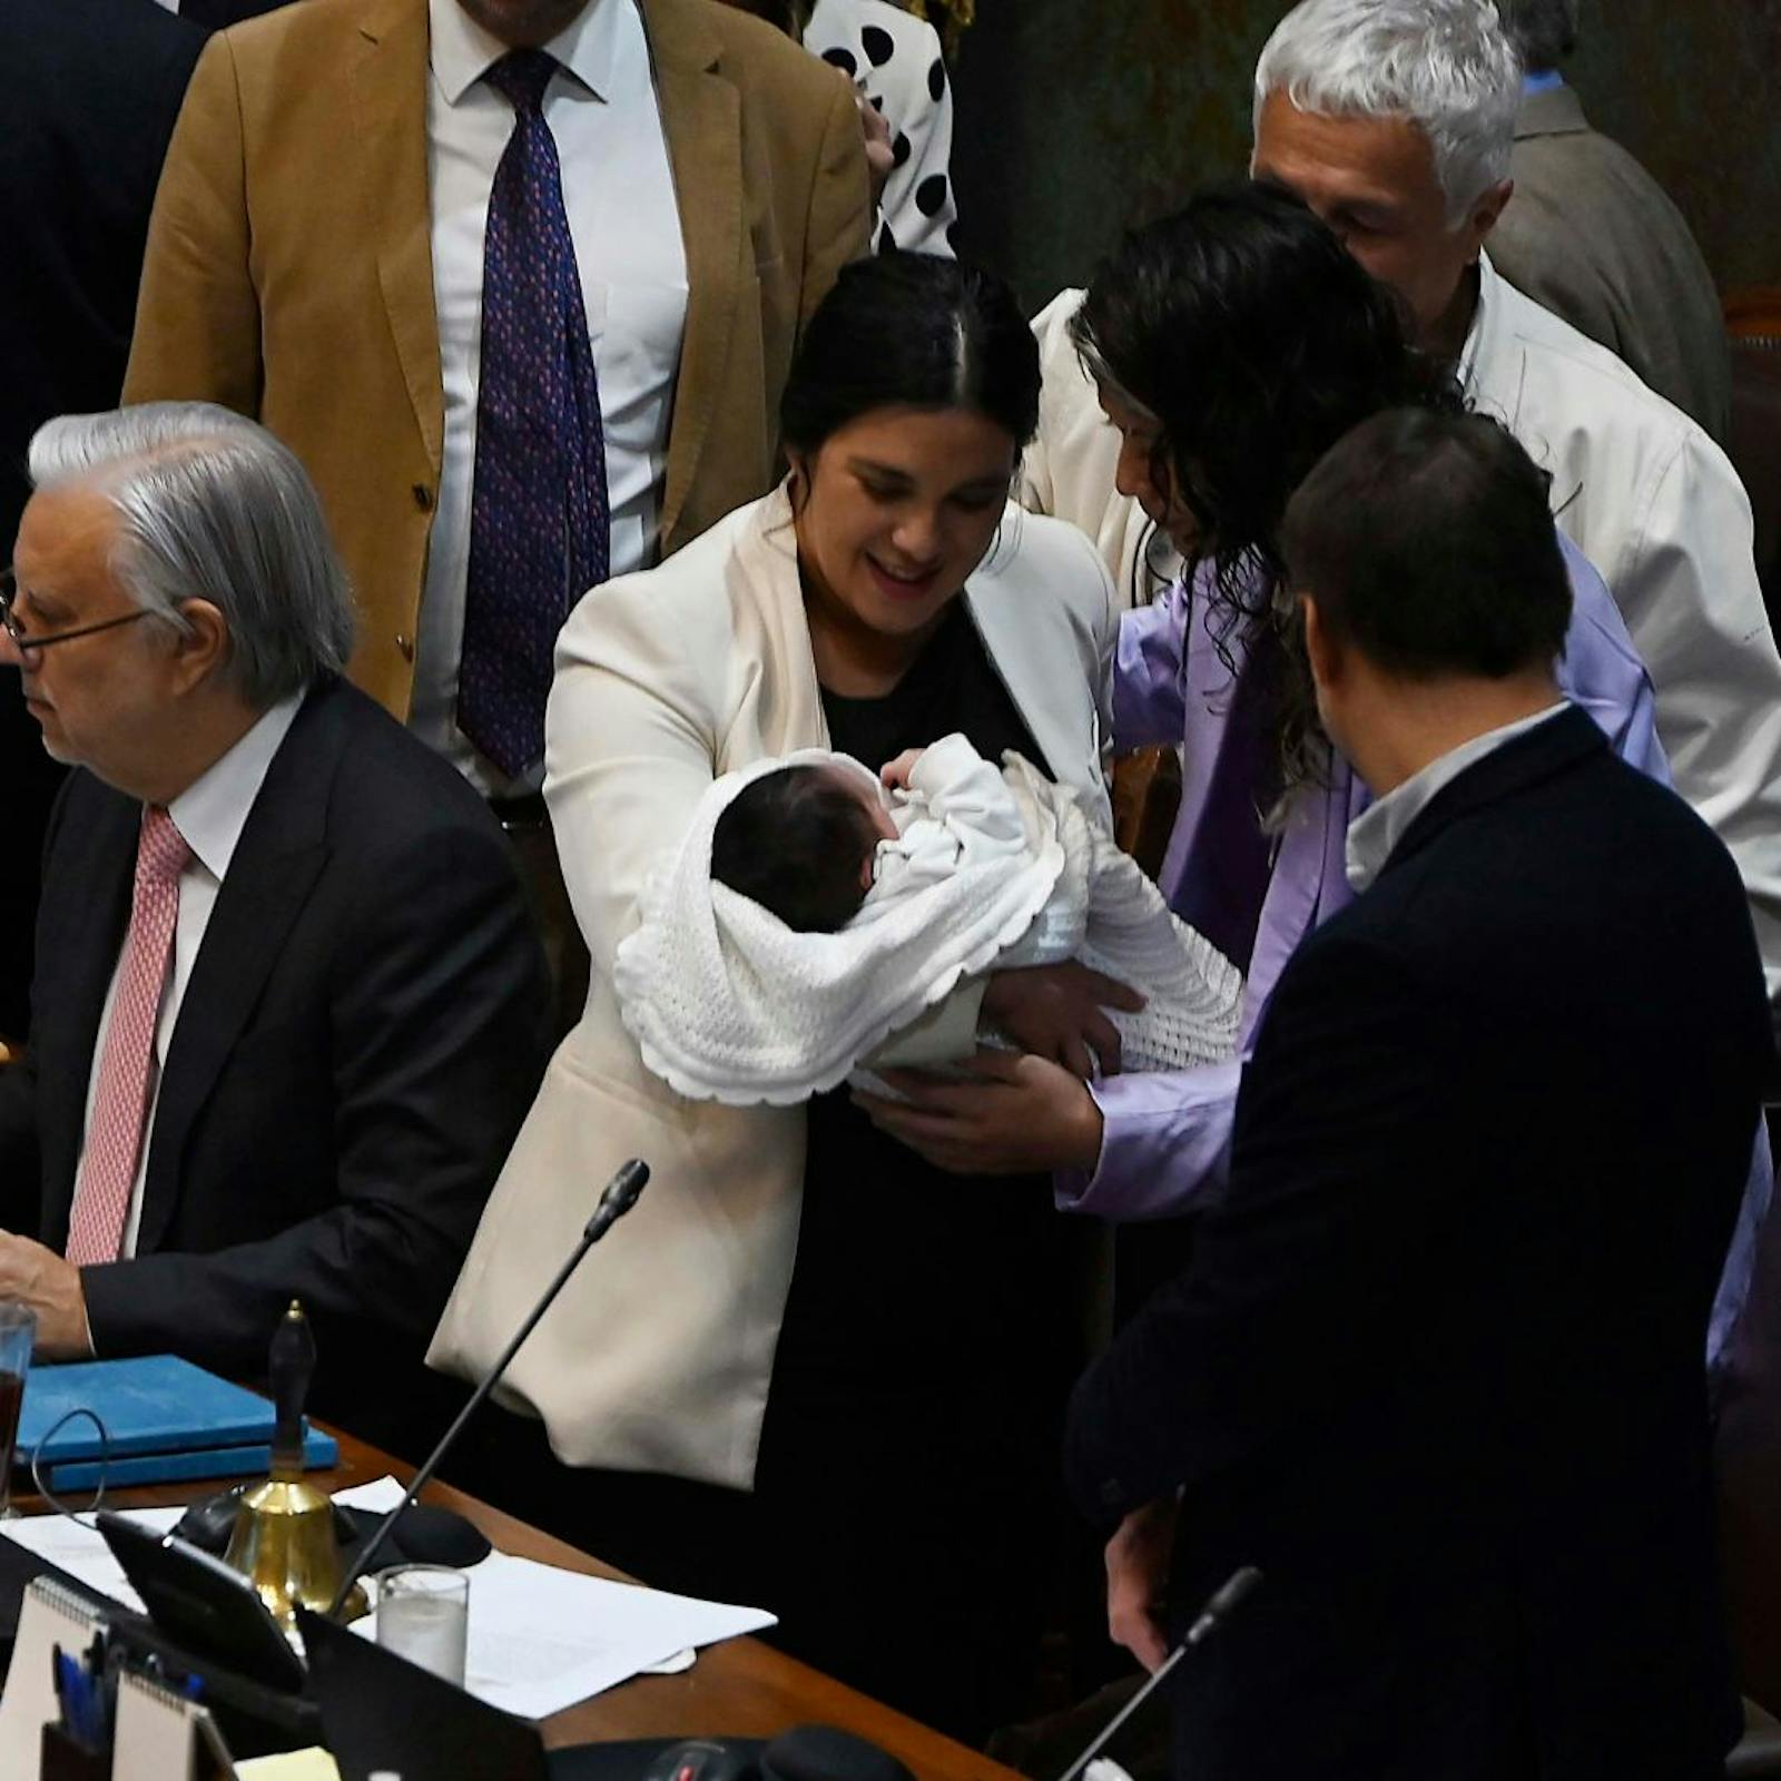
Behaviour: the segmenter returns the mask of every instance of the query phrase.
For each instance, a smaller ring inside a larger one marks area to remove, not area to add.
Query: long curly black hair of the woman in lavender
[[[1156,417],[1158,488],[1199,531],[1211,634],[1286,645],[1277,732],[1288,787],[1323,771],[1304,639],[1277,600],[1293,490],[1386,408],[1459,411],[1450,372],[1411,344],[1398,297],[1291,192],[1211,187],[1131,230],[1097,269],[1070,333],[1088,369]]]

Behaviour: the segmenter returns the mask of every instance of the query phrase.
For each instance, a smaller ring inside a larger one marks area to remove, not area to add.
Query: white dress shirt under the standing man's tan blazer
[[[506,778],[458,728],[483,360],[483,239],[495,167],[513,135],[513,107],[483,75],[508,46],[458,0],[429,0],[427,20],[427,191],[445,456],[415,638],[410,725],[481,791],[499,796],[536,791],[543,780],[541,764],[522,780]],[[563,64],[550,77],[543,114],[563,167],[563,207],[600,383],[611,572],[625,575],[655,561],[686,328],[680,210],[636,0],[593,0],[545,50]]]

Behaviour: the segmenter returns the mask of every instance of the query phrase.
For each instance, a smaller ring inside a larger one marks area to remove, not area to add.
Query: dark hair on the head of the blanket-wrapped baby
[[[878,830],[826,768],[750,780],[711,832],[711,876],[800,933],[835,933],[866,901],[862,867]]]

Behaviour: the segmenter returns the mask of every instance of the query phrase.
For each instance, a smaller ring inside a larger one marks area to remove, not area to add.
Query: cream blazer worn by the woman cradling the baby
[[[1053,771],[1104,803],[1117,620],[1094,547],[1010,508],[964,598]],[[606,1177],[641,1156],[654,1174],[638,1209],[582,1263],[508,1373],[508,1400],[543,1416],[570,1464],[753,1480],[798,1247],[803,1108],[675,1095],[643,1067],[609,972],[645,871],[679,842],[711,780],[826,744],[784,492],[661,568],[595,590],[563,629],[545,796],[593,985],[427,1359],[479,1377],[573,1247]],[[960,1037],[969,1044],[980,999],[942,1008],[935,1051],[947,1037],[955,1056]]]

